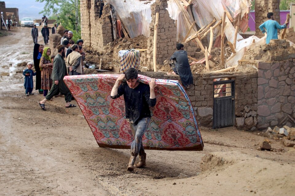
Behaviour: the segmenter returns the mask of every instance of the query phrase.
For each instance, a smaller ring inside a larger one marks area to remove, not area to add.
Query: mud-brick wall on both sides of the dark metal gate
[[[142,75],[155,77],[154,72],[142,72]],[[211,76],[223,77],[223,75],[235,74],[194,74],[194,86],[187,89],[192,107],[199,126],[212,127],[213,125],[213,78]],[[179,80],[177,75],[159,75],[157,78]],[[257,71],[239,73],[239,76],[229,78],[235,80],[235,126],[239,129],[256,129],[257,124]],[[253,128],[254,127],[254,128]]]

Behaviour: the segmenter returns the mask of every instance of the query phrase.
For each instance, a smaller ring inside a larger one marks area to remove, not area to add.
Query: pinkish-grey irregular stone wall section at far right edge
[[[258,64],[258,128],[295,125],[295,63]]]

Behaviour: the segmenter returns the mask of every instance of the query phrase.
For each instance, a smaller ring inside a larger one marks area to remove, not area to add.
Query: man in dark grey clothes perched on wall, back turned
[[[188,89],[193,84],[193,75],[191,73],[191,66],[188,62],[187,51],[183,50],[183,44],[176,44],[177,51],[173,53],[170,60],[174,61],[172,70],[179,75],[183,86]]]

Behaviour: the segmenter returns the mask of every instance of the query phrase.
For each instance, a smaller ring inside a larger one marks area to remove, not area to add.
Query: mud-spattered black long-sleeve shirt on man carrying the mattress
[[[118,88],[118,94],[111,96],[116,99],[124,95],[126,120],[137,124],[143,118],[151,117],[149,106],[154,107],[157,99],[150,99],[149,85],[139,83],[136,88],[131,89],[127,82],[123,82]]]

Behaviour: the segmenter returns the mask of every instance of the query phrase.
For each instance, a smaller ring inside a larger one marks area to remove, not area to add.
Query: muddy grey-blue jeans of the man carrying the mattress
[[[144,155],[144,147],[142,145],[142,136],[144,135],[145,130],[148,128],[148,125],[151,121],[151,118],[143,118],[138,121],[137,125],[129,123],[134,140],[131,143],[131,155],[137,156]]]

